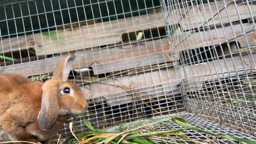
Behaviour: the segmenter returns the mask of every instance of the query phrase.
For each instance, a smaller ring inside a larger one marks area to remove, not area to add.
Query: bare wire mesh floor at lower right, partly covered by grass
[[[166,117],[176,116],[176,115],[177,115],[177,117],[185,119],[188,124],[191,124],[191,125],[196,126],[200,129],[203,129],[203,130],[209,130],[209,131],[211,131],[215,134],[236,136],[236,137],[256,141],[256,138],[253,137],[252,135],[240,132],[240,131],[235,130],[235,129],[230,129],[228,126],[225,126],[225,125],[222,125],[221,130],[220,130],[220,123],[218,123],[217,121],[214,122],[214,121],[211,121],[210,119],[206,119],[204,117],[196,116],[195,114],[188,113],[187,111],[183,111],[181,113],[177,113],[177,114],[174,114],[174,115],[157,116],[157,117],[154,117],[154,118],[163,119],[163,118],[166,118]],[[144,120],[141,120],[141,121],[143,122]],[[137,121],[136,123],[140,123],[141,121]],[[183,127],[173,123],[171,120],[169,122],[164,122],[163,124],[167,125],[168,127],[170,127],[173,130],[183,129]],[[161,127],[159,127],[159,129],[161,129],[163,131],[167,130],[165,126],[163,126],[163,127],[161,126]],[[110,128],[107,129],[107,131],[118,132],[119,131],[119,126],[110,127]],[[201,140],[203,143],[237,143],[237,142],[229,141],[229,140],[226,140],[226,139],[216,139],[215,137],[212,137],[209,134],[205,134],[205,133],[202,133],[202,132],[197,132],[197,131],[194,131],[194,130],[185,129],[185,131],[183,131],[183,133],[186,134],[186,138],[198,139],[198,140]],[[177,142],[177,141],[173,140],[173,143],[175,143],[175,142]],[[191,143],[191,141],[190,142],[182,141],[182,142],[183,143]],[[159,143],[165,143],[165,142],[161,141]]]

